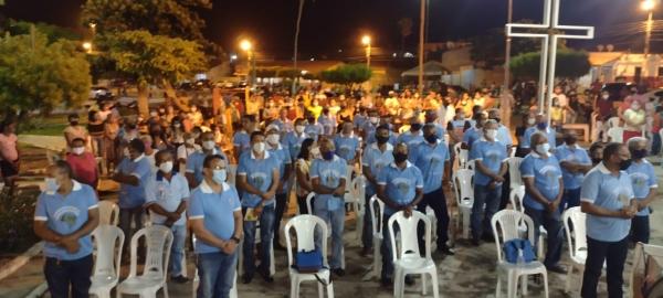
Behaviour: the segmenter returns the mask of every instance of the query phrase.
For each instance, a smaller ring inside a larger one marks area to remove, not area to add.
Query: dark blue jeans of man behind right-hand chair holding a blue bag
[[[525,206],[525,214],[532,217],[532,221],[534,222],[535,242],[538,241],[539,226],[544,225],[548,232],[548,247],[546,249],[546,259],[544,260],[544,265],[546,265],[546,267],[557,265],[561,258],[561,242],[564,238],[559,210],[551,214],[547,210],[535,210]],[[535,246],[541,244],[535,243]]]

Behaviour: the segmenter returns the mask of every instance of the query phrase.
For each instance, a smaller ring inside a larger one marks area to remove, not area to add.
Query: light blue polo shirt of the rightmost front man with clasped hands
[[[618,211],[629,205],[633,200],[631,178],[624,171],[619,177],[599,163],[585,177],[580,201],[589,202],[597,206]],[[631,220],[607,217],[587,214],[587,236],[602,242],[619,242],[629,235]]]

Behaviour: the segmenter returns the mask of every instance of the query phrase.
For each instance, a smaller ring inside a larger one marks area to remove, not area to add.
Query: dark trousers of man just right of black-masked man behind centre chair
[[[438,233],[438,249],[446,247],[446,241],[449,240],[449,212],[446,211],[446,199],[444,198],[443,188],[424,194],[423,200],[421,200],[417,206],[417,211],[425,214],[427,206],[431,206],[431,209],[435,212],[435,217],[438,219],[438,231],[433,231],[433,233]],[[419,223],[419,226],[417,227],[417,234],[419,237],[420,249],[424,249],[424,232],[425,226],[423,223]]]

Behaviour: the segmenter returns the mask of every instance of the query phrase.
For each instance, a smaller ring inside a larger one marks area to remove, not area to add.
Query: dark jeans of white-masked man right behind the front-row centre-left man
[[[246,209],[242,207],[242,213],[246,213]],[[272,237],[274,236],[274,217],[275,217],[274,204],[266,205],[263,207],[262,213],[259,216],[260,221],[260,243],[261,246],[261,263],[260,270],[263,273],[270,273],[270,248],[272,244]],[[255,260],[253,259],[253,247],[255,246],[255,227],[257,222],[244,221],[244,246],[242,253],[244,255],[244,274],[246,276],[253,276],[255,273]]]

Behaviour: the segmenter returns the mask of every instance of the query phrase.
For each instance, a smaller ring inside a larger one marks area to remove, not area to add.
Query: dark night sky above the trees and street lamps
[[[429,0],[429,40],[457,40],[503,28],[507,0]],[[207,20],[206,35],[233,51],[239,35],[257,41],[257,47],[273,55],[292,52],[297,0],[217,0]],[[573,45],[590,47],[597,43],[615,43],[618,49],[642,46],[638,35],[611,35],[628,32],[628,22],[644,21],[638,0],[562,0],[561,23],[597,26],[597,41]],[[63,26],[78,26],[80,7],[84,0],[8,0],[1,10],[9,18],[43,21]],[[413,34],[407,45],[418,42],[419,0],[307,0],[302,21],[303,55],[329,53],[336,49],[357,46],[359,36],[368,32],[376,46],[400,49],[398,20],[411,18]],[[514,0],[514,19],[540,20],[541,0]],[[659,9],[663,11],[663,8]],[[657,13],[663,17],[663,13]],[[591,49],[591,47],[590,47]],[[640,50],[639,50],[640,51]]]

